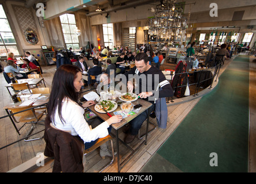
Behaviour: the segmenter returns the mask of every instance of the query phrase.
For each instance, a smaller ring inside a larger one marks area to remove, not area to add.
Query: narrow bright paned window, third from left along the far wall
[[[110,49],[113,49],[114,39],[113,39],[113,24],[102,24],[103,28],[103,37],[104,37],[104,46],[109,46]]]

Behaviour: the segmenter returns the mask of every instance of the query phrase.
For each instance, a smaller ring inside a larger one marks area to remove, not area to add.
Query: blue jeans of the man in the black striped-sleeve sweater
[[[149,109],[145,110],[143,113],[139,114],[139,116],[135,117],[132,121],[129,122],[131,125],[129,133],[131,133],[131,135],[138,135],[139,129],[142,128],[143,122],[147,119],[147,113],[153,112],[154,109],[155,104],[153,104]]]

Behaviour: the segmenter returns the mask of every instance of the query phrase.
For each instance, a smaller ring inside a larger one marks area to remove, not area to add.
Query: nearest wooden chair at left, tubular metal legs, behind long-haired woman
[[[39,120],[43,116],[45,110],[38,112],[38,111],[35,111],[35,109],[31,109],[31,108],[33,108],[32,105],[29,105],[29,106],[14,106],[12,108],[8,108],[10,114],[17,113],[17,114],[12,115],[12,119],[13,119],[14,122],[16,122],[16,123],[23,122],[24,125],[25,124],[31,124],[32,125],[30,131],[25,136],[26,137],[24,139],[25,141],[32,141],[32,140],[42,139],[42,137],[38,137],[38,138],[34,138],[34,139],[28,139],[28,137],[27,137],[27,136],[31,135],[32,131],[34,130],[34,124],[36,124],[37,122],[44,122],[44,121],[39,121]],[[26,110],[26,109],[29,109],[29,110]],[[23,110],[25,110],[25,111],[21,112]],[[20,112],[20,113],[18,113],[18,112]],[[24,125],[22,125],[21,128],[23,128]],[[20,131],[21,128],[18,129],[18,134],[20,134],[19,131]]]

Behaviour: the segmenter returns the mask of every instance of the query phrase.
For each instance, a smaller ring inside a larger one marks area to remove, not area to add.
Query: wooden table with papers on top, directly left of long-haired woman
[[[41,99],[37,99],[36,102],[34,102],[34,104],[32,104],[33,108],[37,108],[37,107],[40,107],[40,106],[46,106],[48,101],[49,101],[49,97],[50,97],[50,94],[42,94],[41,96],[45,96],[44,98],[41,98]],[[9,118],[10,118],[10,121],[12,121],[12,124],[14,126],[14,128],[16,129],[18,135],[20,135],[20,132],[18,131],[18,128],[16,127],[16,124],[15,122],[13,121],[13,118],[12,116],[10,116],[10,112],[9,112],[9,108],[12,108],[14,106],[19,106],[23,103],[24,101],[21,101],[21,102],[17,102],[17,103],[11,103],[7,106],[5,106],[3,109],[5,109],[6,113],[8,114]],[[28,109],[27,109],[28,110]],[[17,112],[19,113],[19,112]],[[17,113],[14,113],[14,114],[17,114]]]

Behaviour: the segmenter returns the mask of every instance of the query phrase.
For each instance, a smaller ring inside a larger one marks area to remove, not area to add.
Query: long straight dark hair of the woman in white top
[[[71,64],[64,64],[55,72],[51,84],[51,94],[47,104],[47,118],[49,118],[49,120],[52,120],[55,113],[58,113],[60,120],[65,122],[61,114],[62,100],[65,98],[68,100],[71,99],[76,102],[77,105],[81,106],[79,103],[79,93],[76,92],[73,83],[78,72],[81,72],[79,67]]]

